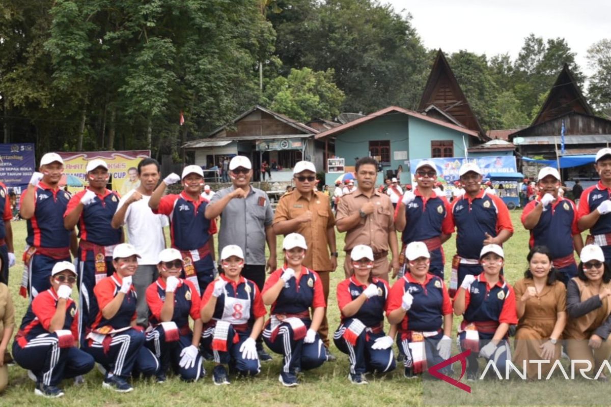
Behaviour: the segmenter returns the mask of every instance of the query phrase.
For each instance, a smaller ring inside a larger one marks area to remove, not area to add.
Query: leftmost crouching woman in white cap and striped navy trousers
[[[76,283],[71,262],[57,262],[51,270],[51,288],[38,294],[27,308],[13,342],[15,362],[36,377],[35,394],[62,397],[59,384],[93,369],[91,355],[78,344],[78,314],[70,295]],[[4,355],[2,355],[4,356]]]

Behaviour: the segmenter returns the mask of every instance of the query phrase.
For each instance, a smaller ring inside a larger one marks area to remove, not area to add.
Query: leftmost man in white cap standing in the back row
[[[32,174],[21,194],[19,211],[27,220],[26,269],[20,294],[26,297],[29,292],[30,298],[51,287],[51,269],[58,261],[70,261],[70,248],[76,256],[74,228],[64,228],[64,213],[71,198],[69,192],[59,187],[64,160],[59,154],[46,153],[40,159],[38,171]]]

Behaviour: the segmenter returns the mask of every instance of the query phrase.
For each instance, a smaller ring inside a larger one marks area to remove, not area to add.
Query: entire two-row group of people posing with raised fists
[[[395,369],[395,342],[408,378],[447,359],[453,314],[463,316],[460,347],[472,350],[467,378],[477,375],[478,356],[504,369],[516,324],[516,339],[524,341],[516,342],[515,359],[557,358],[562,339],[576,339],[565,347],[569,357],[589,358],[592,369],[611,356],[611,149],[596,155],[601,181],[584,191],[579,208],[558,195],[557,170],[540,171],[540,195],[521,218],[531,235],[529,267],[515,289],[503,278],[502,244],[513,234],[508,209],[481,189],[483,172],[472,162],[459,170],[464,195],[452,204],[434,190],[436,166],[421,160],[414,189],[393,205],[392,195],[375,187],[378,163],[364,157],[337,215],[329,196],[315,189],[316,168],[307,161],[293,168],[295,190],[275,212],[266,193],[251,185],[252,164],[244,156],[229,162],[232,185],[209,199],[197,165],[159,182],[159,164],[143,159],[139,186],[120,197],[106,189],[108,164],[99,159],[87,164],[85,190],[60,190],[63,164],[59,155],[45,154],[21,197],[22,294],[31,303],[12,350],[35,378],[36,394],[62,395],[60,381],[78,380],[94,362],[104,371],[103,386],[118,392],[131,391],[130,378],[139,375],[163,383],[174,371],[196,381],[205,375],[204,359],[214,361],[213,383],[229,384],[230,375],[256,375],[271,359],[263,342],[282,355],[280,383],[296,386],[299,372],[335,360],[326,310],[330,273],[338,266],[336,230],[346,232],[346,259],[337,286],[341,322],[332,339],[348,355],[351,383]],[[166,193],[178,182],[180,193]],[[15,257],[2,216],[5,284]],[[123,243],[124,225],[130,243]],[[584,229],[592,234],[585,246]],[[446,287],[442,243],[455,231]],[[277,235],[284,235],[280,256]],[[398,278],[392,288],[390,276]],[[4,292],[0,284],[2,352],[14,326]],[[0,366],[0,387],[3,372]]]

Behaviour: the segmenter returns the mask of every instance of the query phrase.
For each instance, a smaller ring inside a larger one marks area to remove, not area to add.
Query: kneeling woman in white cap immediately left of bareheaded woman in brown
[[[500,270],[505,254],[499,245],[481,248],[480,263],[483,272],[467,275],[456,292],[454,313],[463,315],[458,330],[461,349],[471,350],[467,357],[467,380],[475,380],[478,356],[493,360],[499,372],[511,359],[508,339],[510,325],[518,323],[516,295]]]

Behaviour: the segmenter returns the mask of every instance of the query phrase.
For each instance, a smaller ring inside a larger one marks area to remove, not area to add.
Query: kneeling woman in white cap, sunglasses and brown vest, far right
[[[597,373],[611,356],[611,269],[596,245],[585,246],[580,258],[577,277],[566,287],[566,353],[572,360],[590,362],[575,363],[576,371],[584,369],[591,378],[607,381]]]

